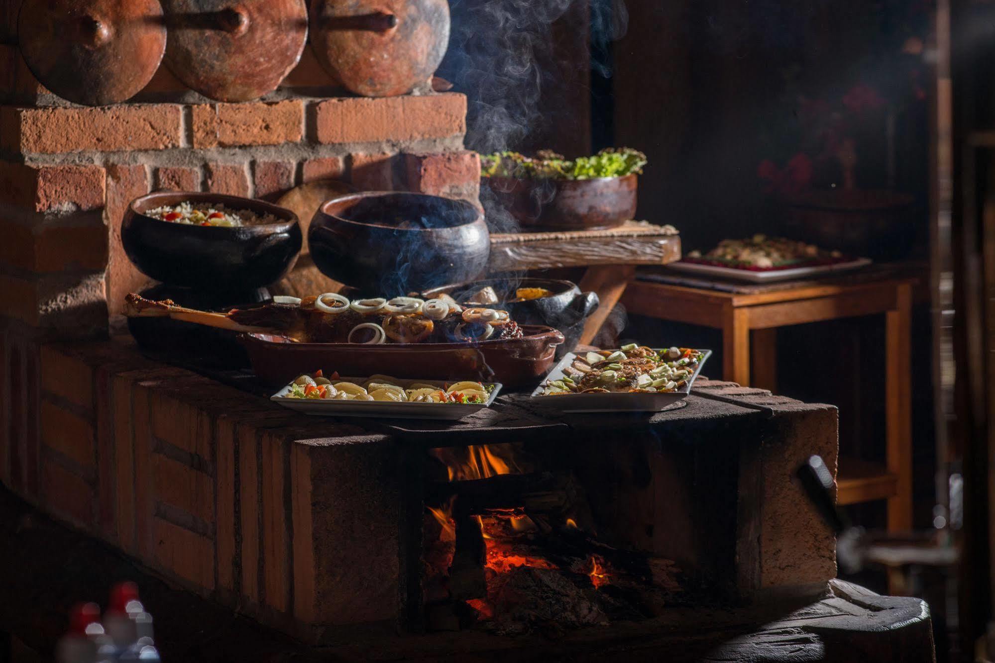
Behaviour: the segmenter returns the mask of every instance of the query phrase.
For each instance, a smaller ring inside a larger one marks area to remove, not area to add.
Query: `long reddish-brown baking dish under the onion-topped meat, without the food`
[[[552,327],[521,325],[520,339],[480,343],[296,343],[274,334],[242,334],[239,340],[256,377],[283,387],[302,373],[321,369],[340,375],[389,375],[428,380],[482,380],[505,388],[534,387],[552,366],[563,334]]]

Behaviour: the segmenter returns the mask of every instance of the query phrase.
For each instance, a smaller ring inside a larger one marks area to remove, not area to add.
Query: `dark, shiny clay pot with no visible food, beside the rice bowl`
[[[480,275],[491,253],[484,215],[466,201],[367,192],[322,204],[307,244],[321,273],[367,296]]]

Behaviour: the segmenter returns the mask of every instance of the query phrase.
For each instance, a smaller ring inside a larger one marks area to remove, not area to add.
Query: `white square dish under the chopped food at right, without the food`
[[[667,349],[654,348],[657,352]],[[701,372],[704,362],[711,356],[711,350],[697,350],[701,353],[701,361],[697,363],[695,372],[688,378],[684,387],[676,392],[619,392],[597,394],[565,394],[559,396],[542,396],[543,386],[553,380],[563,377],[563,369],[573,363],[576,353],[568,352],[563,359],[553,367],[546,379],[532,392],[532,403],[543,408],[557,410],[561,413],[659,413],[678,401],[684,401],[691,394],[697,375]]]

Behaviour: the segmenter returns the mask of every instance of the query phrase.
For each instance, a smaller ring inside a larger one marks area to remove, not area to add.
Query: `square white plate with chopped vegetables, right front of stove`
[[[688,398],[710,350],[650,348],[568,353],[532,392],[564,413],[660,412]]]

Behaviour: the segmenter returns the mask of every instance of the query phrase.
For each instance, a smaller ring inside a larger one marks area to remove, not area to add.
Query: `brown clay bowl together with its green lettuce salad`
[[[577,159],[544,151],[481,158],[483,184],[526,232],[621,226],[636,214],[637,176],[645,165],[646,155],[629,148]],[[490,219],[499,218],[499,211],[488,212]]]

